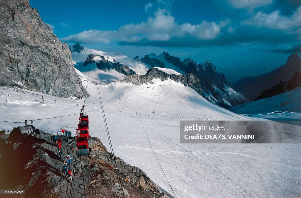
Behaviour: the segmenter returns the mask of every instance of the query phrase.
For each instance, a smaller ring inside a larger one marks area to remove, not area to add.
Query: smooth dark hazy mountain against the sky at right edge
[[[234,83],[235,90],[243,93],[250,101],[255,100],[263,91],[272,88],[280,81],[289,81],[296,72],[301,72],[301,59],[297,54],[288,57],[285,65],[254,77],[244,77]]]

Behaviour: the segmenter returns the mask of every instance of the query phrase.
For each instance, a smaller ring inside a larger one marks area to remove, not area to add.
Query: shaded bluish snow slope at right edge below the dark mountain
[[[237,114],[262,118],[301,119],[301,87],[230,108]]]

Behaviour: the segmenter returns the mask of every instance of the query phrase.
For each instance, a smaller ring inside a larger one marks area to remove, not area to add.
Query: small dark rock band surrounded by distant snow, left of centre
[[[103,71],[107,71],[110,69],[115,69],[117,72],[122,73],[124,75],[132,75],[136,74],[129,66],[123,65],[120,62],[110,62],[108,61],[104,56],[96,55],[96,54],[89,54],[88,57],[85,60],[84,65],[96,63],[98,69],[101,69]]]

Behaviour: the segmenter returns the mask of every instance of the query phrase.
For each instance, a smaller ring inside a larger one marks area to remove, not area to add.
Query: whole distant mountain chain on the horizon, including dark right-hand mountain
[[[143,58],[136,56],[130,59],[121,53],[84,49],[79,43],[70,46],[72,55],[75,59],[81,57],[77,60],[84,62],[83,65],[94,63],[103,71],[116,70],[126,75],[125,80],[133,84],[152,84],[154,78],[161,80],[169,78],[191,87],[208,101],[224,108],[248,102],[245,96],[250,100],[261,99],[284,93],[287,86],[296,87],[299,78],[296,71],[300,70],[301,62],[298,55],[293,54],[285,65],[274,71],[257,77],[245,77],[231,85],[225,75],[217,72],[216,67],[209,60],[203,64],[198,64],[190,58],[181,61],[180,58],[171,56],[165,51],[159,56],[151,53]],[[152,68],[166,68],[174,72],[168,73],[169,70],[160,71]],[[295,73],[295,80],[287,84]]]

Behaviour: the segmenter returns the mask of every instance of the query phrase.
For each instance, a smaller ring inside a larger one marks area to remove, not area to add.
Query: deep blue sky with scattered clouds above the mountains
[[[301,52],[301,0],[29,0],[68,45],[134,58],[163,51],[207,59],[230,82],[269,72]],[[63,32],[63,33],[62,33]]]

